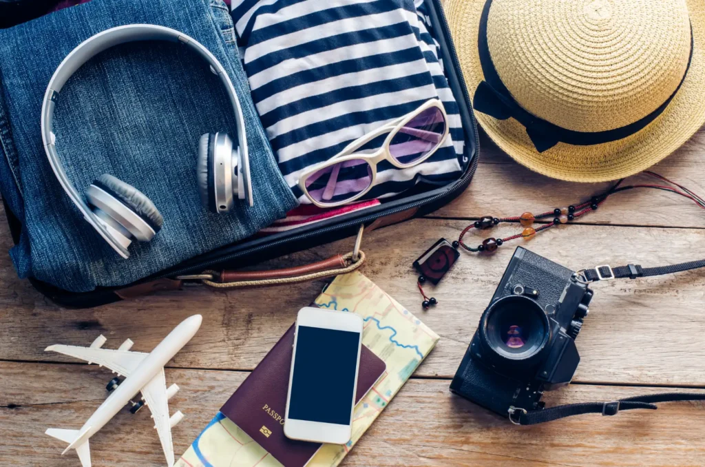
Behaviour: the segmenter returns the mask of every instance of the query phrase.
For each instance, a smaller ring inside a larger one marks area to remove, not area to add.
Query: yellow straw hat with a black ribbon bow
[[[475,116],[569,181],[656,164],[705,123],[703,0],[446,0]]]

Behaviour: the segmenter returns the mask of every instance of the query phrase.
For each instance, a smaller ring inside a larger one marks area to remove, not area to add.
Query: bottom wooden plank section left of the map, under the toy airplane
[[[96,365],[0,363],[0,465],[77,466],[75,453],[61,456],[66,444],[44,431],[80,428],[106,398],[105,384],[113,376]],[[172,431],[177,457],[246,376],[243,372],[167,370],[167,383],[180,387],[169,401],[169,410],[185,414]],[[153,425],[149,410],[133,416],[125,408],[91,438],[93,465],[166,465]]]

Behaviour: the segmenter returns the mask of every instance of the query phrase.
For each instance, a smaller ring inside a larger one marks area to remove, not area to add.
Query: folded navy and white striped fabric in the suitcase
[[[422,0],[233,0],[252,99],[279,168],[300,202],[302,171],[428,99],[448,113],[450,137],[410,169],[383,163],[365,198],[411,188],[419,176],[460,177],[458,104],[429,34]]]

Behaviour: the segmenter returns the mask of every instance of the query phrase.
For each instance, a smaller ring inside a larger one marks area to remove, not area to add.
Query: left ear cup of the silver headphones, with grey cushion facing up
[[[88,188],[86,198],[137,240],[152,240],[164,224],[164,218],[152,200],[112,175],[103,174],[95,180]]]

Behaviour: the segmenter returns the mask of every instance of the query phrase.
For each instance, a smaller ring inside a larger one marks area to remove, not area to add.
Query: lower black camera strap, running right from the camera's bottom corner
[[[527,411],[524,408],[509,409],[509,420],[515,425],[537,425],[551,422],[559,418],[583,415],[584,413],[601,413],[603,416],[615,416],[621,411],[635,408],[656,410],[658,402],[705,401],[705,394],[670,392],[666,394],[647,394],[644,396],[627,397],[611,402],[582,402]]]

